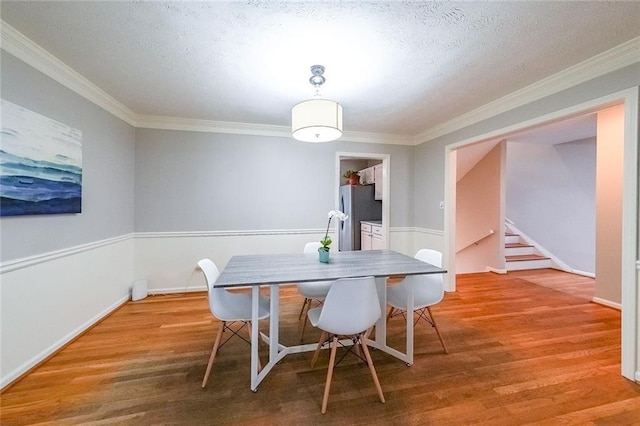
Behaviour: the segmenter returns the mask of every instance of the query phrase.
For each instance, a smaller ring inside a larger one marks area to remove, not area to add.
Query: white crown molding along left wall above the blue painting
[[[84,78],[6,22],[0,21],[0,30],[2,50],[10,53],[121,120],[134,125],[137,118],[136,113],[111,97],[104,90]]]

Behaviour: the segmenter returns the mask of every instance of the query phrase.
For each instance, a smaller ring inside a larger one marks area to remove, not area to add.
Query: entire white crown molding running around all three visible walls
[[[134,127],[291,137],[290,129],[286,126],[137,114],[6,22],[0,21],[0,29],[0,48],[2,50]],[[419,145],[639,61],[640,37],[636,37],[591,59],[417,135],[344,132],[340,140],[391,145]]]

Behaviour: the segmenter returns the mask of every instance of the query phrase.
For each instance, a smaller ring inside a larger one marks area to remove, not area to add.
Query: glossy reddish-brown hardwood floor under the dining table
[[[459,276],[457,292],[433,308],[450,353],[424,325],[413,366],[372,351],[385,404],[366,365],[345,358],[325,415],[326,351],[314,369],[311,353],[285,358],[253,393],[249,346],[235,338],[203,390],[216,330],[206,295],[149,297],[6,390],[0,423],[640,425],[640,385],[620,375],[620,312],[567,292],[588,292],[588,280],[552,270]],[[299,336],[301,304],[294,288],[282,289],[285,344]],[[400,347],[402,330],[391,321]],[[305,340],[318,336],[308,328]]]

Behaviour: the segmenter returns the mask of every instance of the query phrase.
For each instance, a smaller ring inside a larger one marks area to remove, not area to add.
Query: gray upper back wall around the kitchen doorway
[[[391,157],[391,226],[412,226],[411,146],[136,130],[136,232],[315,229],[335,207],[336,152]]]

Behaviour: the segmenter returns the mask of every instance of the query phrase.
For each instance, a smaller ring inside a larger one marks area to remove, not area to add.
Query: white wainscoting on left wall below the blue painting
[[[4,388],[129,298],[133,235],[5,262],[0,276]]]

